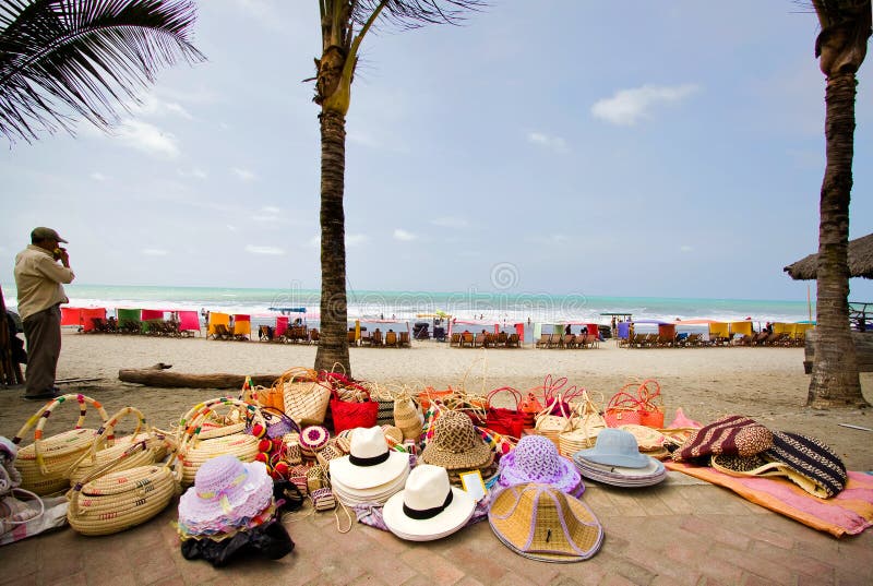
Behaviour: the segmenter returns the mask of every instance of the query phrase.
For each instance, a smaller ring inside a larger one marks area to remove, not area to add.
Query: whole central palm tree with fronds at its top
[[[486,0],[319,0],[322,53],[315,59],[314,101],[321,106],[321,338],[315,370],[340,364],[348,375],[346,325],[345,191],[346,113],[361,41],[379,26],[402,29],[459,24]]]

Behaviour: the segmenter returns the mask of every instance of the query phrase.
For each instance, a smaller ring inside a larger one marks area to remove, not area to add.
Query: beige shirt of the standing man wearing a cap
[[[55,261],[49,251],[28,244],[15,256],[14,273],[22,320],[69,301],[61,283],[72,283],[75,274]]]

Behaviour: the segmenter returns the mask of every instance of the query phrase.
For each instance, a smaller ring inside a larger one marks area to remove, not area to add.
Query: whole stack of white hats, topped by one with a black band
[[[388,450],[381,428],[356,428],[349,455],[332,459],[330,473],[334,495],[343,504],[384,503],[403,489],[409,455]]]

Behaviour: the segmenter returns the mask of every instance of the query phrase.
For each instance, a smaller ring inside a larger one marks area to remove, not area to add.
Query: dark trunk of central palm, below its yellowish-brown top
[[[322,110],[321,122],[321,338],[315,370],[340,364],[351,376],[346,306],[346,216],[343,210],[346,169],[346,119]]]

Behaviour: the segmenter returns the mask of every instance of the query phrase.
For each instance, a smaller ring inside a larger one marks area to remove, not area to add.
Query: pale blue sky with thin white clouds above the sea
[[[463,26],[368,35],[348,288],[805,300],[782,267],[818,240],[809,10],[494,0]],[[82,284],[320,286],[318,2],[201,0],[193,43],[208,61],[162,70],[111,134],[5,141],[0,282],[49,226]],[[873,231],[871,60],[850,238]],[[850,287],[873,301],[873,282]]]

